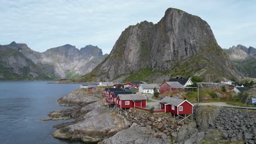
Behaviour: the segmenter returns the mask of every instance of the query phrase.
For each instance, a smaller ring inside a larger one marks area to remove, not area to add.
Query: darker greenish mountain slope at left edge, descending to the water
[[[43,71],[20,51],[0,45],[0,80],[47,80]]]

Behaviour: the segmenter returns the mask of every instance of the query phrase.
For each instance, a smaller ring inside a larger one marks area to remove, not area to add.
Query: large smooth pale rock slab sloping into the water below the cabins
[[[53,137],[83,142],[98,142],[126,129],[123,119],[108,112],[106,107],[97,107],[86,113],[79,122],[56,130]]]

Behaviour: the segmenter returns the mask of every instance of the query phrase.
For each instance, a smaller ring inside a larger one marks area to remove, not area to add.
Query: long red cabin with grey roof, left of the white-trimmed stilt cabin
[[[118,94],[116,105],[121,109],[135,106],[146,107],[147,98],[144,94]]]

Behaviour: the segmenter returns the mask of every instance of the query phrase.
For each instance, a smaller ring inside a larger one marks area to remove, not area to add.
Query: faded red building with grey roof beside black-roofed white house
[[[180,91],[184,89],[181,83],[177,81],[166,81],[160,86],[160,93],[171,92],[171,91]]]

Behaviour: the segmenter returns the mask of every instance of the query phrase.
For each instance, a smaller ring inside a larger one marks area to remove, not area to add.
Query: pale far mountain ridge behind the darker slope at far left
[[[34,67],[42,71],[41,73],[51,79],[69,79],[85,75],[107,57],[107,55],[102,55],[101,49],[92,45],[82,47],[79,50],[75,46],[67,44],[42,53],[31,50],[26,44],[17,44],[15,41],[4,47],[19,52],[19,55],[30,59],[30,64],[33,64]],[[2,55],[5,54],[2,53]]]

